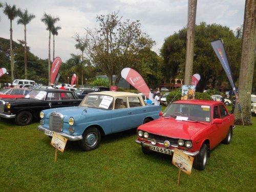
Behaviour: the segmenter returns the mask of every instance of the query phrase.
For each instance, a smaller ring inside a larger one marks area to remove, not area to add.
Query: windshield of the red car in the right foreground
[[[171,103],[163,112],[163,117],[210,122],[210,111],[209,105]]]

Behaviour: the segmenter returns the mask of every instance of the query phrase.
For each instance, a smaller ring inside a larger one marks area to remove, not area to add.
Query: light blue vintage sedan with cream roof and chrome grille
[[[101,136],[138,127],[158,119],[161,106],[145,105],[134,93],[103,91],[89,93],[79,106],[41,111],[39,131],[56,132],[78,141],[83,151],[99,146]]]

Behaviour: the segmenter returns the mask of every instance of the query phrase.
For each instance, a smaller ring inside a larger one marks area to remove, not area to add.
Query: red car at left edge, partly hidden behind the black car
[[[0,91],[0,98],[21,98],[25,97],[30,91],[24,88],[5,88]]]

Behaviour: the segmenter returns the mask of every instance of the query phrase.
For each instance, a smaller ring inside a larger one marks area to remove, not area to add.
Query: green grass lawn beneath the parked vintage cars
[[[144,155],[136,129],[104,137],[91,152],[70,142],[54,163],[55,148],[39,123],[0,119],[0,191],[256,191],[256,117],[252,123],[211,151],[205,170],[182,172],[177,187],[172,156]]]

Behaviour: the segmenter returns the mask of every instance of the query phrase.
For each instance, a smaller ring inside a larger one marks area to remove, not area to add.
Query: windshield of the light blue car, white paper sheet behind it
[[[91,108],[112,109],[113,97],[109,95],[88,94],[80,103],[80,106],[89,106]]]

